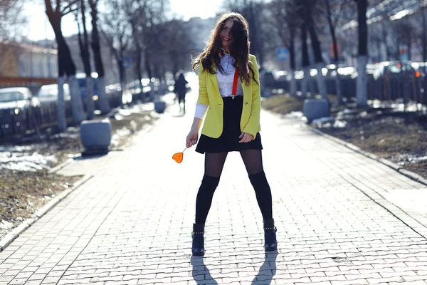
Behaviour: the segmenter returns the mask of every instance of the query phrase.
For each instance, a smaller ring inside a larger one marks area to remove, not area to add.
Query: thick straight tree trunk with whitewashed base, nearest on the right
[[[364,108],[368,105],[367,59],[368,59],[368,26],[367,0],[357,1],[357,21],[359,36],[359,56],[357,56],[357,106]]]

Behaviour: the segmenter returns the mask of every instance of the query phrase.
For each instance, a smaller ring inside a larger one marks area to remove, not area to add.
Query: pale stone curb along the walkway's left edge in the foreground
[[[64,163],[65,162],[63,162],[63,164]],[[70,162],[67,162],[67,164],[68,163],[70,163]],[[60,165],[58,165],[57,167],[59,167],[59,166]],[[63,165],[62,167],[65,167],[65,165]],[[62,167],[60,167],[60,168],[62,168]],[[49,212],[53,207],[55,207],[56,204],[58,204],[61,200],[63,200],[68,195],[70,195],[71,192],[73,192],[75,189],[77,189],[78,187],[80,187],[81,185],[83,185],[85,182],[87,182],[88,180],[90,180],[90,178],[92,178],[92,177],[93,177],[92,175],[90,175],[90,176],[87,176],[87,175],[83,176],[82,179],[80,179],[77,182],[75,182],[75,184],[73,185],[73,187],[70,187],[69,189],[64,190],[63,192],[60,193],[60,195],[58,195],[55,198],[51,199],[51,201],[49,201],[43,207],[41,207],[40,209],[38,209],[34,213],[33,217],[24,220],[23,222],[21,222],[21,224],[19,224],[18,227],[12,229],[12,231],[9,232],[9,234],[6,234],[6,236],[4,236],[2,239],[0,239],[0,252],[3,252],[4,249],[6,249],[6,247],[8,247],[9,244],[11,244],[12,242],[14,242],[14,240],[17,237],[19,237],[19,235],[22,234],[26,229],[28,229],[28,227],[31,227],[32,224],[34,224],[38,219],[40,219],[41,217],[43,217],[47,212]]]

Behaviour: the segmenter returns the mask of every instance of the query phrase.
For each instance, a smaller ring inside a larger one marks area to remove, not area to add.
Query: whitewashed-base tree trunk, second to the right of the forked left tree
[[[97,78],[97,88],[98,88],[98,100],[100,101],[100,111],[101,114],[106,114],[110,112],[110,100],[105,94],[105,73],[104,65],[102,64],[101,58],[101,48],[100,48],[100,36],[97,29],[97,7],[93,3],[93,0],[89,0],[90,4],[90,15],[92,16],[92,51],[93,59],[95,61],[95,69],[98,75]]]

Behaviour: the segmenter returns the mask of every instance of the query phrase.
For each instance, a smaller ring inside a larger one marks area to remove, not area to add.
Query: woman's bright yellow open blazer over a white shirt
[[[255,80],[260,82],[258,73],[258,64],[252,54],[249,55],[252,62],[252,68],[255,73]],[[218,80],[216,73],[203,71],[203,66],[199,66],[199,98],[197,103],[208,105],[208,111],[204,120],[201,133],[210,138],[219,138],[223,132],[223,98],[219,93]],[[214,66],[216,71],[216,66]],[[260,86],[251,79],[249,86],[246,81],[241,82],[243,88],[243,110],[241,116],[241,131],[249,133],[255,138],[260,128],[261,98]]]

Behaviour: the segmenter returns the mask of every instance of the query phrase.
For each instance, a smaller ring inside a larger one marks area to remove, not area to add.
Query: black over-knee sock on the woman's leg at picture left
[[[219,177],[204,175],[201,180],[199,192],[196,198],[196,224],[204,224],[211,209],[212,198],[218,186]]]

